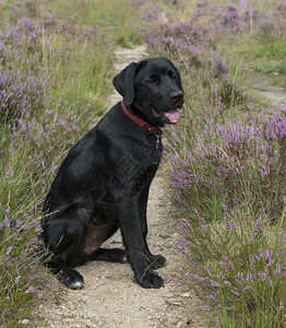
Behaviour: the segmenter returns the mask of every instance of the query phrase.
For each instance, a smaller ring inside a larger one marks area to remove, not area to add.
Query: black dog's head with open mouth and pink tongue
[[[131,110],[153,125],[176,124],[183,105],[179,70],[165,57],[132,62],[114,79]]]

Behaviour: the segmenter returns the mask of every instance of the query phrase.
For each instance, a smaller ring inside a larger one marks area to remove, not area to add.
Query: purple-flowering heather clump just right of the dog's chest
[[[219,106],[196,106],[200,115],[184,122],[190,126],[191,121],[191,133],[174,132],[184,148],[178,143],[176,149],[172,141],[169,151],[167,177],[180,207],[187,212],[202,207],[204,218],[211,220],[214,200],[231,206],[251,198],[253,210],[275,221],[285,206],[286,185],[281,176],[286,169],[286,117],[272,113],[262,122],[230,124],[222,122],[225,116]]]

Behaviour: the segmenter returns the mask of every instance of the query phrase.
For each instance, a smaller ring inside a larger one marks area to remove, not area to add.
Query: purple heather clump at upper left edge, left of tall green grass
[[[28,19],[0,34],[0,125],[44,106],[47,72],[33,55],[40,39],[39,27]]]

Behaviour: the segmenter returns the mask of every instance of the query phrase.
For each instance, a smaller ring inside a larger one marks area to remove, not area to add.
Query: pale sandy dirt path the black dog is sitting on
[[[135,49],[118,49],[115,68],[120,71],[131,61],[144,58],[144,46]],[[117,94],[110,95],[110,106],[120,101]],[[176,219],[160,174],[152,184],[148,200],[148,244],[154,254],[167,258],[167,266],[158,272],[165,277],[176,276],[183,263],[174,249],[178,237]],[[117,233],[105,243],[105,247],[120,247],[121,236]],[[210,327],[208,320],[198,313],[189,293],[165,280],[165,288],[145,290],[134,280],[130,265],[88,262],[78,268],[84,277],[83,290],[65,289],[59,304],[48,302],[43,307],[47,327],[103,327],[103,328],[172,328]],[[188,305],[187,305],[188,303]],[[213,327],[213,326],[212,326]]]

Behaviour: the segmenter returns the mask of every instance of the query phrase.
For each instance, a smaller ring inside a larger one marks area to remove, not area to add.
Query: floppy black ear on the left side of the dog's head
[[[131,105],[134,101],[134,78],[138,65],[131,62],[120,73],[114,78],[115,89],[121,94],[126,105]]]

